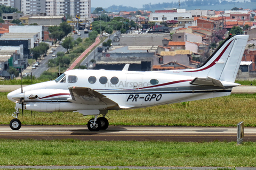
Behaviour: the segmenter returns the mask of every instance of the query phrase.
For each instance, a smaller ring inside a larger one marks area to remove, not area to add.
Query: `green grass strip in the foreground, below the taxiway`
[[[0,140],[0,165],[255,167],[256,143]]]

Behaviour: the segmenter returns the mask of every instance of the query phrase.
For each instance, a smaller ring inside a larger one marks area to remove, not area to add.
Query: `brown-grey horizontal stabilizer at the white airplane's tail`
[[[194,80],[189,82],[190,84],[198,85],[198,86],[218,86],[223,87],[223,84],[220,80],[216,80],[210,77],[207,78],[195,78]]]

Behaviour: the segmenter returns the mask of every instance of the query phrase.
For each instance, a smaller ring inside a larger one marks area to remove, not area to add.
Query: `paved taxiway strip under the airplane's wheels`
[[[172,127],[172,126],[109,126],[107,130],[91,132],[87,126],[21,126],[13,131],[0,126],[0,139],[79,139],[107,141],[237,141],[237,128]],[[244,128],[243,141],[256,141],[256,128]]]

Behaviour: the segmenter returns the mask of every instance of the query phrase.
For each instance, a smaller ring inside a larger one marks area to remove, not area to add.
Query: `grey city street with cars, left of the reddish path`
[[[81,32],[81,36],[77,36],[77,34],[72,35],[74,40],[76,40],[78,37],[87,38],[89,36],[89,34],[84,33],[83,30],[81,30],[80,32]],[[58,47],[55,47],[55,46],[52,46],[52,47],[55,48],[55,52],[53,54],[57,54],[58,52],[66,52],[67,51],[61,45]],[[42,61],[40,62],[40,65],[38,67],[36,67],[36,69],[31,70],[32,75],[34,75],[36,78],[39,78],[40,75],[48,69],[48,60],[53,59],[53,58],[55,58],[55,57],[52,57],[52,54],[48,54],[47,57],[41,58]]]

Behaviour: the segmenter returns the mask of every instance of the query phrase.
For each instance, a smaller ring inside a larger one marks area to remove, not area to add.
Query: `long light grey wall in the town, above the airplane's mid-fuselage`
[[[144,35],[125,35],[120,37],[121,46],[158,46],[162,45],[164,38],[170,39],[169,33],[164,34],[144,34]]]

